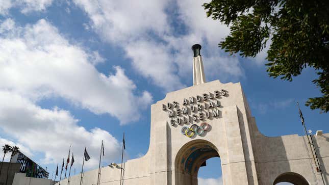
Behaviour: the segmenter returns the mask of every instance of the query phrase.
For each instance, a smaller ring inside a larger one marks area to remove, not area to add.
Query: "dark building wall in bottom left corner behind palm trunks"
[[[2,162],[0,162],[0,166],[2,165]],[[9,167],[9,163],[4,162],[3,167],[2,167],[2,172],[0,174],[0,185],[3,185],[6,183],[6,178],[7,178],[7,169]],[[13,179],[15,176],[15,173],[18,173],[20,169],[20,164],[19,163],[10,163],[9,167],[9,173],[8,173],[8,184],[13,183]]]

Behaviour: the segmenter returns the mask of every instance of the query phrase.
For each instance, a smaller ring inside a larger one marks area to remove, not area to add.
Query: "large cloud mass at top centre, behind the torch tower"
[[[172,91],[192,78],[192,51],[203,44],[206,75],[225,80],[243,76],[237,58],[227,58],[217,47],[229,28],[206,17],[200,1],[74,0],[90,18],[90,28],[118,45],[132,66],[155,85]],[[169,9],[175,11],[168,11]],[[184,31],[175,30],[183,25]],[[88,28],[89,28],[88,27]],[[215,49],[214,49],[215,48]]]

